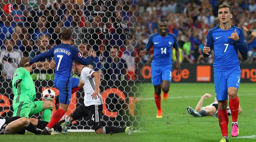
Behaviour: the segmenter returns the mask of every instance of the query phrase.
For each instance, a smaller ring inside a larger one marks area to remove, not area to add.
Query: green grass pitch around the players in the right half
[[[169,99],[161,101],[163,118],[155,118],[157,109],[154,100],[154,87],[143,84],[146,89],[143,105],[144,131],[148,133],[148,142],[219,142],[221,131],[218,118],[193,117],[186,111],[187,106],[195,108],[204,93],[215,97],[213,83],[171,83]],[[241,83],[238,91],[243,112],[239,114],[239,136],[256,135],[256,83]],[[208,98],[203,106],[212,103],[214,98]],[[231,116],[229,116],[229,142],[255,142],[254,139],[231,137]]]

